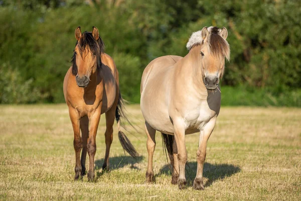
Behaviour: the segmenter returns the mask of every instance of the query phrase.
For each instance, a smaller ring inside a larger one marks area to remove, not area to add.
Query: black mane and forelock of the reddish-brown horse
[[[97,61],[97,72],[100,72],[101,69],[101,54],[104,53],[104,43],[101,40],[100,36],[96,41],[92,36],[91,32],[84,32],[79,41],[76,42],[75,46],[78,45],[79,52],[83,56],[86,55],[86,47],[88,47],[88,51],[91,52],[92,55],[96,56]],[[74,53],[72,56],[72,74],[77,74],[77,65],[76,65],[76,54]]]

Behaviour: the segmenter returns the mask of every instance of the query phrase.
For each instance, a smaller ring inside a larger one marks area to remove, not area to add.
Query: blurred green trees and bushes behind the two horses
[[[18,103],[64,102],[62,84],[76,42],[74,30],[81,26],[91,31],[95,26],[106,53],[115,60],[123,96],[138,103],[140,77],[148,62],[168,54],[185,56],[192,32],[213,25],[229,33],[231,61],[226,63],[223,87],[261,94],[258,102],[250,98],[233,103],[300,106],[285,98],[300,96],[299,8],[298,1],[289,0],[4,0],[0,65],[6,65],[6,77],[20,74],[22,82],[16,84],[29,81],[28,88],[39,92],[33,96],[39,98],[21,98]],[[3,90],[1,94],[8,94]],[[17,103],[15,96],[7,97],[0,103]]]

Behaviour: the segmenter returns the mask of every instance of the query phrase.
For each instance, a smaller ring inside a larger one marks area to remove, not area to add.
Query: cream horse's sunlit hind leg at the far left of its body
[[[147,135],[147,152],[148,152],[148,163],[146,170],[145,183],[150,183],[153,181],[154,171],[153,171],[153,155],[156,147],[156,130],[149,126],[147,122],[145,122],[145,133]]]

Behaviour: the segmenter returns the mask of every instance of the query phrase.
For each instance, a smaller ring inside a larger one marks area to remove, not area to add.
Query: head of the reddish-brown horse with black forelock
[[[75,38],[77,42],[71,60],[72,74],[75,75],[78,86],[86,87],[91,74],[100,72],[104,44],[96,27],[93,27],[92,32],[84,33],[81,33],[80,27],[76,28]]]

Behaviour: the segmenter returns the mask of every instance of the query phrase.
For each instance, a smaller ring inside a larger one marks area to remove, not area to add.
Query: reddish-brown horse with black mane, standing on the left
[[[114,119],[117,121],[118,138],[125,151],[137,156],[135,148],[120,129],[124,117],[123,99],[119,91],[118,70],[113,59],[104,53],[104,43],[98,29],[81,33],[75,30],[77,40],[72,66],[64,78],[64,96],[74,131],[75,180],[85,175],[86,155],[89,155],[88,180],[94,179],[94,156],[96,132],[100,115],[105,113],[106,131],[103,171],[108,169],[110,146],[113,140]],[[81,131],[81,134],[80,134]],[[81,158],[80,158],[80,152]]]

